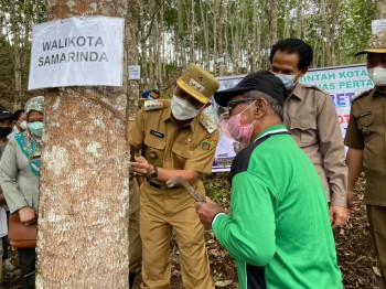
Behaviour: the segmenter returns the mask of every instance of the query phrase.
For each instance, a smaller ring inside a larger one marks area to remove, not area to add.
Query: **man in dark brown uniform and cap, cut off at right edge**
[[[349,147],[349,200],[362,169],[366,174],[364,203],[373,242],[380,259],[382,288],[386,288],[386,31],[371,38],[367,72],[375,88],[358,95],[352,103],[344,143]]]

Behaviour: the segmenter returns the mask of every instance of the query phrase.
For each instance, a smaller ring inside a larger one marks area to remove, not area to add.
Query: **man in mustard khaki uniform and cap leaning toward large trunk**
[[[185,288],[214,288],[195,201],[184,188],[168,189],[165,182],[182,176],[205,195],[201,175],[212,171],[218,131],[202,110],[218,86],[213,75],[190,64],[173,85],[172,100],[146,101],[132,126],[129,144],[142,149],[143,157],[130,171],[146,178],[140,188],[141,288],[169,288],[172,229]]]

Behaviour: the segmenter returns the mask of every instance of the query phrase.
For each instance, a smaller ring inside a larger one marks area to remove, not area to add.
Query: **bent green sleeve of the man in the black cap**
[[[212,226],[218,242],[238,260],[265,266],[276,253],[276,223],[269,186],[248,172],[233,180],[230,214],[218,214]]]

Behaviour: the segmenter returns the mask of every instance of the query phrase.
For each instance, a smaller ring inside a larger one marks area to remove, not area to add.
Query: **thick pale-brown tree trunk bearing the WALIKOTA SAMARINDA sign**
[[[127,14],[127,1],[50,0],[51,20]],[[130,19],[127,19],[130,21]],[[129,157],[122,87],[45,98],[36,288],[127,288]]]

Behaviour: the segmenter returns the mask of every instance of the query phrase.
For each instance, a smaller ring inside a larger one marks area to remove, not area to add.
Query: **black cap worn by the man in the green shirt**
[[[214,99],[221,106],[227,106],[232,97],[247,93],[249,90],[259,90],[283,104],[288,97],[287,88],[281,79],[267,71],[260,71],[245,76],[234,88],[221,90],[214,94]]]

